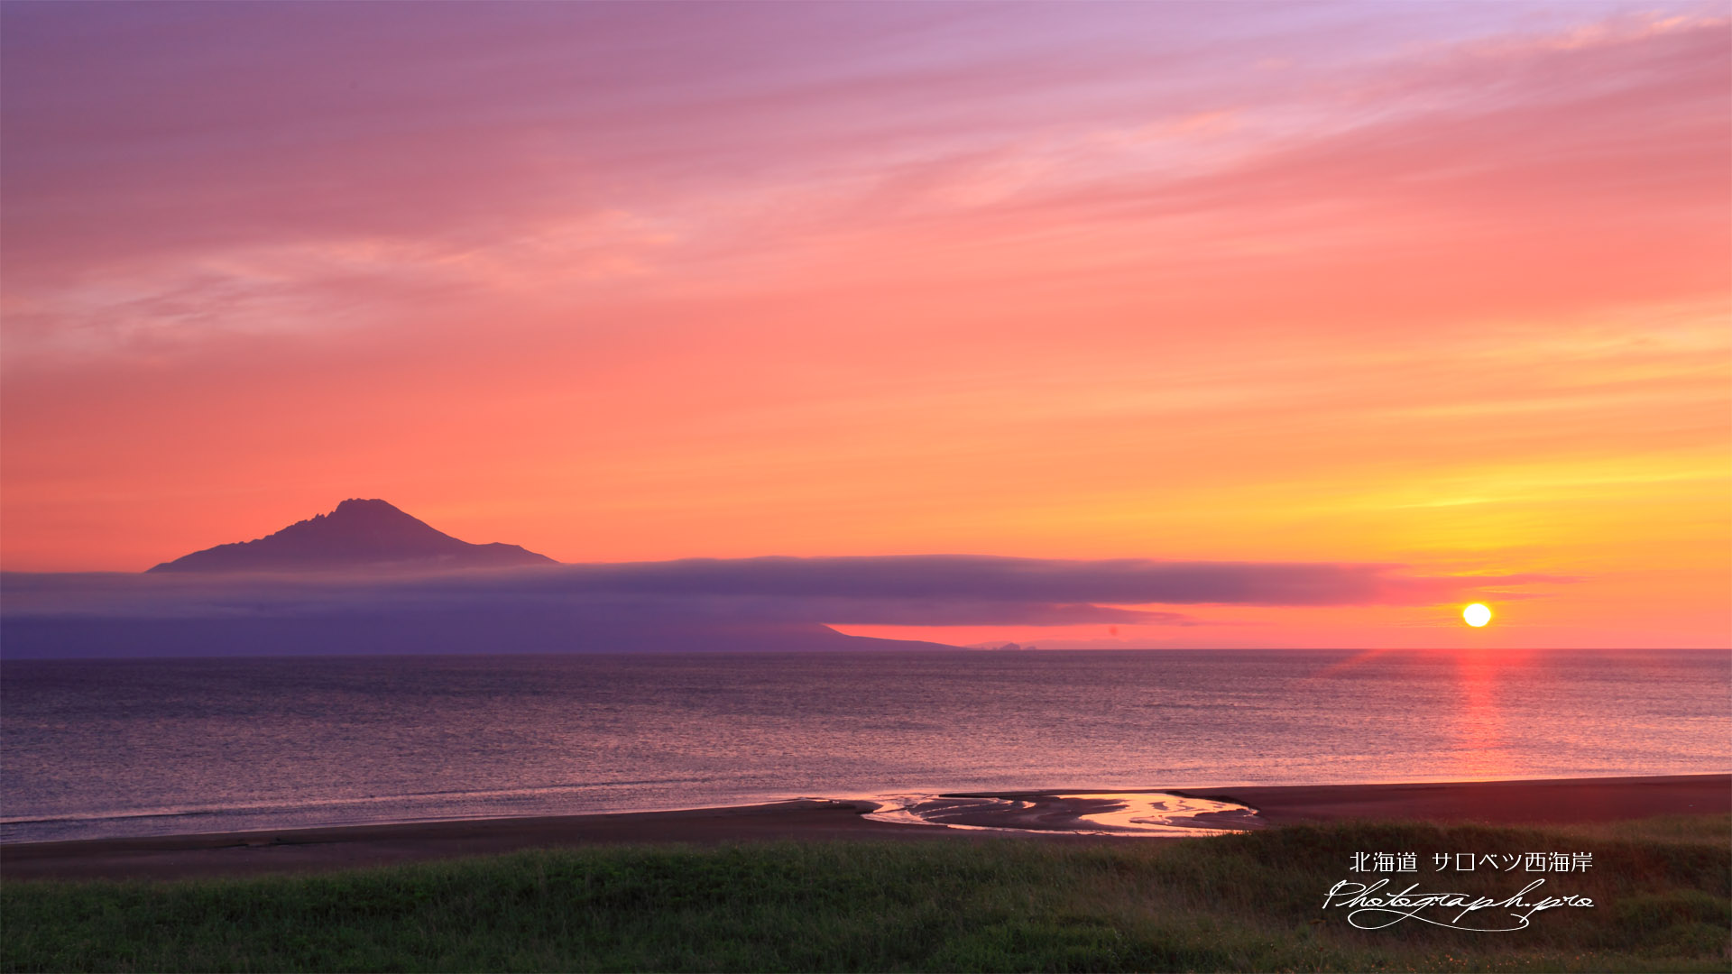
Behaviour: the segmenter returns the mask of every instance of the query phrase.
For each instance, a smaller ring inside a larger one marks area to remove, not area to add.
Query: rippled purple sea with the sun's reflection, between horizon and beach
[[[0,664],[0,841],[736,804],[1732,769],[1725,652]]]

